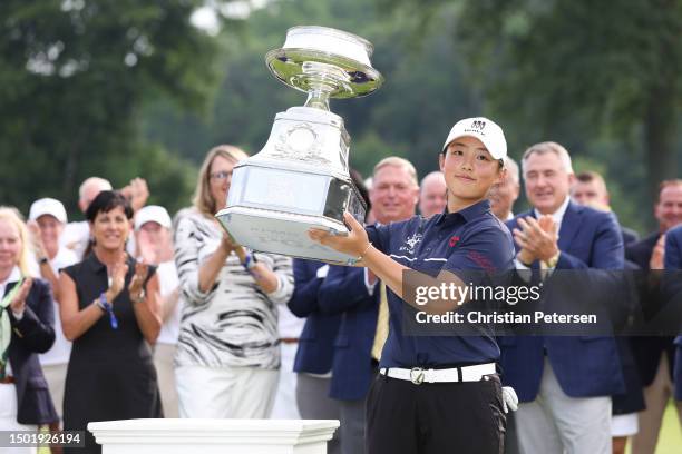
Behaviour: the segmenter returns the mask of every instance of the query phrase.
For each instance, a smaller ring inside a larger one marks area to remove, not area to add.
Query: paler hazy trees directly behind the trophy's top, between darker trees
[[[225,76],[211,115],[201,118],[168,109],[165,101],[156,103],[144,117],[147,137],[196,161],[220,142],[257,152],[275,115],[305,101],[304,93],[269,72],[265,53],[282,46],[290,27],[327,26],[370,40],[372,65],[386,77],[384,86],[369,97],[331,102],[352,137],[351,165],[368,176],[380,158],[399,155],[426,175],[436,169],[455,119],[479,111],[479,97],[464,78],[448,33],[454,32],[452,21],[433,21],[413,39],[418,17],[401,9],[386,11],[364,0],[277,1],[254,11],[238,36],[230,29],[222,36]]]

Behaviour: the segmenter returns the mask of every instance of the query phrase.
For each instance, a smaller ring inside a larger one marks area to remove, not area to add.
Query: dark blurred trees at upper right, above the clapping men
[[[468,80],[513,150],[552,139],[602,162],[626,196],[621,218],[653,227],[657,184],[682,168],[682,1],[398,2],[426,22],[456,21]]]

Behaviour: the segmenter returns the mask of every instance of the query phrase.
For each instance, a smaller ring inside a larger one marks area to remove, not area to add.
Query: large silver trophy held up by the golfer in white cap
[[[227,207],[217,213],[241,245],[257,251],[350,264],[354,257],[308,238],[311,227],[348,235],[343,211],[360,223],[367,206],[348,166],[350,136],[329,98],[366,96],[383,77],[372,68],[372,45],[325,27],[289,29],[281,49],[265,56],[270,71],[308,93],[304,107],[275,117],[265,147],[233,170]]]

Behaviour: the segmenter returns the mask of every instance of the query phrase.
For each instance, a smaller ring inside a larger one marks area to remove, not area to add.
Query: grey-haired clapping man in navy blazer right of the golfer
[[[615,217],[571,201],[571,156],[555,142],[522,159],[533,209],[510,220],[517,268],[622,269]],[[522,402],[519,448],[536,453],[611,453],[611,395],[624,384],[613,337],[501,337],[504,382]]]

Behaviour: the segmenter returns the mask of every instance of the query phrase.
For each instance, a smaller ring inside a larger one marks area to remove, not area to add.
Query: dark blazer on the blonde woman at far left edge
[[[6,294],[14,283],[8,284]],[[17,385],[17,422],[20,424],[49,424],[59,421],[52,397],[38,362],[55,343],[55,310],[52,290],[47,282],[33,279],[26,298],[26,310],[17,320],[8,306],[12,338],[9,345],[9,363]]]

